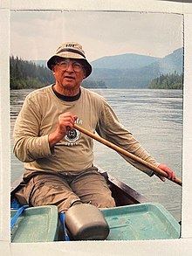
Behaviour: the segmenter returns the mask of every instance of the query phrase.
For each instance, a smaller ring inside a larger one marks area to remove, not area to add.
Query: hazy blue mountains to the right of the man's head
[[[135,67],[140,57],[141,64],[139,67]],[[127,68],[130,59],[134,58],[134,67]],[[106,63],[109,62],[110,68],[106,68]],[[106,86],[111,88],[147,88],[150,81],[162,73],[182,73],[183,48],[175,50],[164,58],[125,54],[124,56],[97,59],[91,64],[93,65],[93,73],[87,78],[87,82],[88,80],[104,80]],[[112,66],[113,68],[111,68]]]

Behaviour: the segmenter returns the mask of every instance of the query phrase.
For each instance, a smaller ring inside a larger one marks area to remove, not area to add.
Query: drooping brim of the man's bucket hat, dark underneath
[[[81,55],[78,53],[73,53],[73,52],[61,52],[58,54],[53,55],[48,61],[47,61],[47,66],[49,69],[52,70],[52,67],[55,65],[55,59],[59,58],[67,58],[67,59],[79,59],[82,65],[84,66],[86,70],[86,78],[92,73],[92,66],[89,64],[89,62],[83,58]]]

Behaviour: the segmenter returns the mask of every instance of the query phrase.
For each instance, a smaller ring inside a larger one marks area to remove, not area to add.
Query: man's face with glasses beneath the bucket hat
[[[53,66],[52,72],[60,90],[76,90],[85,78],[85,69],[76,59],[62,59]]]

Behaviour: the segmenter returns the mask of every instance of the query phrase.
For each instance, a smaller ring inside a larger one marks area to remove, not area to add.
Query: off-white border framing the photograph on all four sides
[[[182,2],[182,1],[181,1]],[[10,243],[10,10],[113,10],[178,13],[184,17],[184,90],[182,146],[182,238],[153,241]],[[0,246],[1,255],[190,255],[192,252],[192,3],[134,0],[2,0],[0,3]]]

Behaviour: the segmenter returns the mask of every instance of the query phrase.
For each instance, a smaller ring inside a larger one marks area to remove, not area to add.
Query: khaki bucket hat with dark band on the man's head
[[[82,46],[76,42],[66,42],[58,47],[56,53],[47,61],[47,66],[52,70],[52,66],[55,65],[55,59],[69,58],[69,59],[79,59],[84,68],[86,69],[86,78],[92,73],[92,66],[86,60],[85,52]]]

